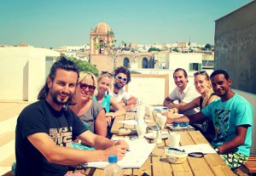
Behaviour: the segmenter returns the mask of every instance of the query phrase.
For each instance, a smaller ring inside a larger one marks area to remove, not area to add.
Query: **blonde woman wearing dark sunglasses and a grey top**
[[[73,96],[75,105],[70,105],[70,108],[91,132],[106,137],[106,111],[103,105],[92,99],[97,94],[96,87],[96,77],[92,73],[80,72],[78,86]]]

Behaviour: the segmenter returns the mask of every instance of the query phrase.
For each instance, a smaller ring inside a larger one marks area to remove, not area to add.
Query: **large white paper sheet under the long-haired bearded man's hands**
[[[123,138],[125,139],[125,138]],[[115,139],[113,139],[115,140]],[[146,139],[125,139],[130,146],[130,151],[127,151],[123,160],[118,162],[120,167],[139,168],[146,162],[148,156],[154,149],[155,144],[149,144]],[[88,162],[87,167],[107,167],[108,162]]]

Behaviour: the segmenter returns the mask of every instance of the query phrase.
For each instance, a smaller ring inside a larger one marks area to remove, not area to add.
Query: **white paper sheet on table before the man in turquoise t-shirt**
[[[202,152],[204,154],[206,153],[217,153],[211,145],[208,144],[201,144],[201,145],[184,145],[178,147],[179,149],[185,150],[187,153],[191,152]]]

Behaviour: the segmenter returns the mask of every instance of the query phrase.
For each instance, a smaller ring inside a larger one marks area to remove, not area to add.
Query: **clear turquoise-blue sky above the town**
[[[214,43],[214,20],[246,0],[0,0],[0,44],[59,47],[89,43],[106,22],[118,42]]]

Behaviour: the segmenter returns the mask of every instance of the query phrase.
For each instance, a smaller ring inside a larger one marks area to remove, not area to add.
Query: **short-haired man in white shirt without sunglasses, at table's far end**
[[[196,91],[195,86],[189,84],[188,74],[184,69],[177,68],[173,72],[173,79],[177,87],[174,88],[172,93],[164,100],[164,105],[166,107],[177,108],[178,106],[185,105],[201,96],[201,94]],[[175,100],[178,101],[177,104],[174,103]],[[195,108],[189,111],[184,111],[183,114],[193,115],[198,111],[200,111],[199,108]]]

